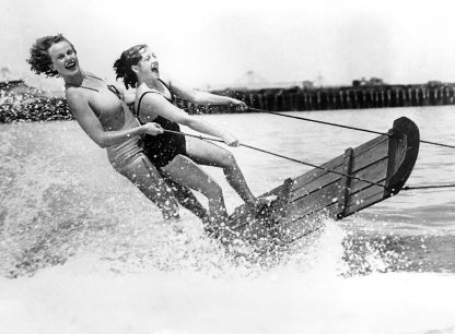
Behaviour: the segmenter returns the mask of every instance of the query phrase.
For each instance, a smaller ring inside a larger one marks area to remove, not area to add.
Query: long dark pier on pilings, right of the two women
[[[352,85],[266,90],[223,90],[211,93],[235,97],[249,107],[269,111],[308,111],[336,109],[396,108],[453,105],[455,84],[429,82],[420,85]],[[184,100],[180,107],[190,114],[235,112],[233,108],[197,106]],[[244,111],[242,111],[244,112]]]

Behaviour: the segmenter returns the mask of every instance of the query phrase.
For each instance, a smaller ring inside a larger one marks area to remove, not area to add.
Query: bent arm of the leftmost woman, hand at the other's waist
[[[120,144],[131,136],[148,133],[156,135],[163,133],[163,129],[156,123],[147,123],[132,129],[119,131],[105,131],[96,118],[89,102],[82,93],[71,92],[67,94],[67,102],[71,114],[74,116],[82,130],[100,146],[107,147]]]

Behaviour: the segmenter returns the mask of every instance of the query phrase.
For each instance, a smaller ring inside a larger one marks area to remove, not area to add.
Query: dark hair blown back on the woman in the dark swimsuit
[[[140,52],[147,48],[145,44],[136,45],[130,47],[128,50],[121,52],[119,59],[114,62],[114,70],[117,74],[116,79],[121,77],[124,80],[125,87],[136,87],[138,83],[138,76],[132,71],[131,67],[139,63],[142,59],[142,53]]]

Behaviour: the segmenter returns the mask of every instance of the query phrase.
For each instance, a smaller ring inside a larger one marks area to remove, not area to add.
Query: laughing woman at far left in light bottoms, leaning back
[[[61,34],[38,38],[27,60],[37,74],[61,76],[69,109],[85,133],[107,150],[113,167],[154,202],[164,218],[178,217],[178,205],[171,188],[144,155],[143,134],[163,133],[154,122],[139,124],[115,86],[83,71],[73,45]],[[170,181],[180,203],[200,218],[207,213],[189,189]]]

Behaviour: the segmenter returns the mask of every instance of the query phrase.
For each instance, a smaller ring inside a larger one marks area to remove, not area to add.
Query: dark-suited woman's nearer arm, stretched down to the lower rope
[[[238,140],[231,133],[208,123],[200,118],[191,117],[165,99],[161,94],[147,94],[141,100],[140,117],[143,121],[152,121],[156,115],[192,130],[221,138],[230,146],[238,146]]]

